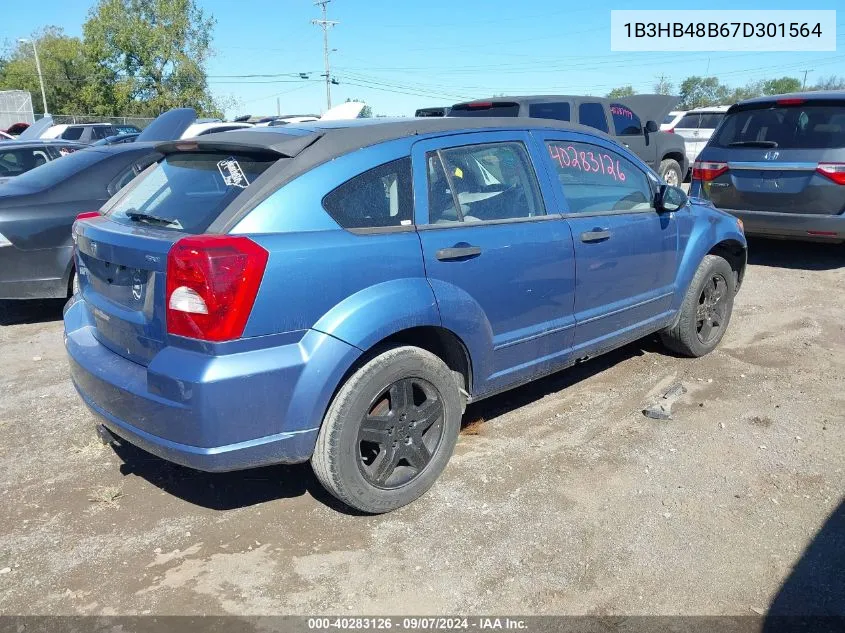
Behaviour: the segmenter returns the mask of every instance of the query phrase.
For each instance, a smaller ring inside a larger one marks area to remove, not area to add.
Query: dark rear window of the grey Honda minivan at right
[[[743,110],[725,118],[711,144],[782,149],[845,147],[845,107],[799,105]]]

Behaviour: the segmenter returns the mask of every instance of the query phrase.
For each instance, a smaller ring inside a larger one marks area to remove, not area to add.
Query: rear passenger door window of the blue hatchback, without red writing
[[[429,223],[485,222],[544,215],[537,177],[522,143],[485,143],[426,154]]]

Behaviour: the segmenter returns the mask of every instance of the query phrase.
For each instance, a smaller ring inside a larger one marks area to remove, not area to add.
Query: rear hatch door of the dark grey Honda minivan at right
[[[773,101],[732,109],[699,160],[727,165],[726,171],[703,183],[717,207],[842,213],[845,185],[825,170],[845,163],[845,101]]]

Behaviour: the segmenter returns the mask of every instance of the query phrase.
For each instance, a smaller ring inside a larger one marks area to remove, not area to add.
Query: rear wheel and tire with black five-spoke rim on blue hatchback
[[[356,510],[379,514],[407,505],[452,456],[462,404],[440,358],[412,346],[384,349],[334,396],[311,457],[314,473]]]

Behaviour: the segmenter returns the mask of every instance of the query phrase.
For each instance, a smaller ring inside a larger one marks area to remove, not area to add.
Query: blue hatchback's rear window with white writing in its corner
[[[113,220],[202,233],[275,159],[170,154],[109,211]]]

